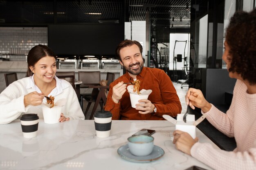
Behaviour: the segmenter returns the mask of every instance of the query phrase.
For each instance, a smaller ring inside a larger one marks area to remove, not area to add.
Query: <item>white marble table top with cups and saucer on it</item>
[[[163,157],[150,163],[122,159],[117,149],[127,138],[148,128],[156,130],[154,144]],[[168,121],[112,121],[110,137],[97,138],[93,120],[70,120],[57,124],[39,121],[38,135],[22,136],[20,121],[0,125],[1,170],[184,170],[192,165],[211,170],[193,157],[175,149],[171,141],[175,126]],[[213,144],[200,130],[200,142]],[[217,147],[215,144],[213,144]]]

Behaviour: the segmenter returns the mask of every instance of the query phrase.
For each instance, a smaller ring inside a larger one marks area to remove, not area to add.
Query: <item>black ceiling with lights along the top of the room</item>
[[[0,25],[124,23],[150,11],[152,30],[189,29],[190,7],[191,0],[0,0]]]

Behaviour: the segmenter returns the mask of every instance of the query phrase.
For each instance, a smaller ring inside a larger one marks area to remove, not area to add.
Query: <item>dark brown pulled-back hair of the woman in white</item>
[[[27,76],[29,77],[31,75],[33,75],[33,72],[30,70],[29,66],[35,66],[35,64],[43,57],[45,56],[50,56],[50,57],[54,57],[56,60],[56,55],[54,54],[54,52],[45,45],[37,45],[34,46],[28,53],[27,55]]]

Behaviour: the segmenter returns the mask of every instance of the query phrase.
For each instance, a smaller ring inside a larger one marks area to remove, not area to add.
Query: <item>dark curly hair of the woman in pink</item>
[[[256,84],[256,8],[233,15],[227,27],[226,42],[231,56],[229,72],[240,74],[250,85]]]

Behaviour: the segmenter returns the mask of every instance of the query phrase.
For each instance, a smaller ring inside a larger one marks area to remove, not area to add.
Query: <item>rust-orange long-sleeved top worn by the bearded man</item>
[[[144,67],[137,79],[140,81],[141,89],[151,89],[152,93],[148,96],[148,100],[157,108],[157,113],[142,115],[139,110],[132,108],[130,95],[126,91],[118,104],[112,100],[112,88],[119,82],[133,82],[133,79],[128,73],[122,75],[110,84],[110,90],[107,97],[105,110],[112,113],[112,119],[118,120],[164,120],[162,115],[167,114],[172,117],[181,113],[180,99],[177,96],[176,90],[171,82],[170,77],[161,69]]]

